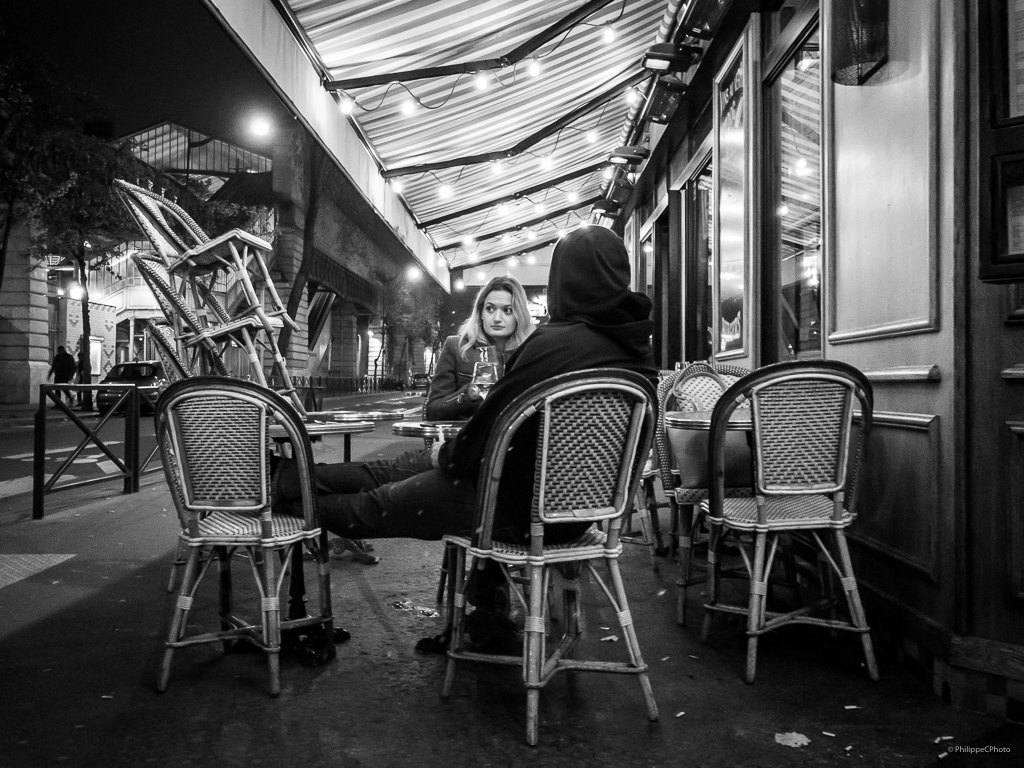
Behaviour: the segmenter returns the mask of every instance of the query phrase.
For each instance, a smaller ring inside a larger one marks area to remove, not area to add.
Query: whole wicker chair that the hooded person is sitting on
[[[492,527],[505,457],[513,435],[532,418],[539,419],[539,426],[530,541],[528,545],[497,542],[492,538]],[[473,538],[444,540],[445,546],[456,552],[456,561],[449,587],[453,636],[443,697],[452,693],[460,662],[521,666],[526,685],[526,741],[536,744],[541,688],[552,676],[564,670],[627,673],[637,676],[647,715],[650,720],[657,719],[647,665],[640,654],[617,561],[623,517],[633,504],[653,426],[650,383],[638,374],[609,369],[555,377],[530,388],[503,412],[481,464]],[[571,543],[545,545],[546,525],[580,521],[607,521],[606,531],[594,525]],[[500,567],[513,587],[513,599],[523,603],[526,621],[521,656],[492,655],[466,647],[463,624],[467,587],[484,560]],[[596,561],[605,563],[610,587],[595,568]],[[510,568],[524,569],[525,597],[515,588]],[[615,611],[629,660],[568,657],[584,634],[579,602],[579,578],[584,568],[600,585]],[[548,648],[545,631],[552,570],[564,580],[565,632],[554,649]]]

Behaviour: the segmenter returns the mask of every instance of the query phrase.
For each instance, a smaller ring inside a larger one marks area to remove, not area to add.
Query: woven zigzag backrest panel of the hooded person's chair
[[[538,436],[538,476],[547,460],[541,519],[594,519],[588,510],[607,508],[618,479],[631,409],[629,397],[614,390],[552,403],[547,456],[544,435]],[[585,440],[579,439],[582,423],[596,425],[588,430]],[[582,478],[586,481],[581,482]],[[535,509],[540,503],[539,489],[540,485],[535,485]]]

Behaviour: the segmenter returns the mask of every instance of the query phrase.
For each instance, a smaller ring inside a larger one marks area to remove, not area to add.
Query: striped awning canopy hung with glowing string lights
[[[279,0],[452,268],[516,256],[590,220],[638,110],[628,94],[651,84],[641,57],[683,4]]]

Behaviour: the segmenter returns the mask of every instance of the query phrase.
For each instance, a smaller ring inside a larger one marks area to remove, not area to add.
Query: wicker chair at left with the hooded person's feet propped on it
[[[283,630],[318,627],[328,657],[334,655],[327,534],[317,525],[312,451],[302,420],[276,393],[220,377],[171,384],[157,403],[156,420],[164,472],[181,523],[180,541],[188,549],[157,687],[166,689],[178,648],[246,641],[266,653],[269,692],[275,696],[281,691]],[[284,428],[293,445],[302,478],[302,517],[270,509],[271,423]],[[318,611],[283,621],[282,584],[291,567],[301,567],[295,562],[301,557],[293,554],[303,547],[317,563]],[[260,618],[253,623],[238,615],[231,604],[231,554],[240,548],[249,555],[259,592]],[[214,559],[220,571],[221,629],[188,634],[197,590]]]

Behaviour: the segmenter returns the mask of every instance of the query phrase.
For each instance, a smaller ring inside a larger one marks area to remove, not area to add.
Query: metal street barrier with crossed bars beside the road
[[[92,392],[93,394],[103,391],[119,392],[117,399],[105,414],[98,417],[95,425],[89,425],[82,418],[71,410],[60,397],[61,392]],[[45,497],[59,490],[71,490],[92,485],[97,482],[123,478],[124,493],[135,494],[138,492],[139,476],[146,470],[150,462],[157,454],[157,446],[150,452],[144,461],[139,459],[139,401],[145,397],[153,404],[146,393],[140,392],[134,384],[41,384],[39,386],[39,410],[35,417],[35,446],[33,458],[33,484],[32,484],[32,517],[41,520],[44,514]],[[83,433],[83,437],[71,455],[65,459],[56,470],[46,477],[46,410],[47,401],[53,402],[59,408]],[[111,417],[120,411],[124,406],[124,455],[117,456],[114,451],[100,437],[100,430],[110,421]],[[75,460],[81,456],[88,445],[95,445],[115,467],[116,472],[108,472],[102,477],[90,477],[84,480],[75,480],[57,485],[57,480],[74,464]],[[155,470],[151,470],[155,471]]]

